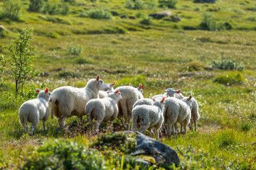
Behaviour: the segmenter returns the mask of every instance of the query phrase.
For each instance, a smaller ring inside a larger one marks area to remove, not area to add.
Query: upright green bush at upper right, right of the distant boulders
[[[199,28],[201,30],[217,30],[217,22],[210,13],[203,13],[203,19]]]

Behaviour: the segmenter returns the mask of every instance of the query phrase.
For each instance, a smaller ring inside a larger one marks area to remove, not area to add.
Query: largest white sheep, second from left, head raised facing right
[[[92,98],[98,98],[100,90],[107,91],[108,87],[99,75],[96,79],[90,79],[84,88],[62,86],[53,90],[50,117],[53,118],[54,114],[62,128],[65,118],[76,115],[82,119],[82,115],[85,115],[86,103]]]

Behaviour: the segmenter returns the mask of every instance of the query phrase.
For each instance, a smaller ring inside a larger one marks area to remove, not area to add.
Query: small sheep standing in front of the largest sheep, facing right
[[[108,91],[107,93],[108,95],[105,98],[92,99],[85,106],[85,114],[92,130],[92,119],[95,118],[95,120],[97,120],[95,134],[99,132],[100,123],[102,121],[110,121],[110,125],[112,125],[112,121],[117,118],[118,114],[117,102],[122,101],[119,90],[114,92]]]

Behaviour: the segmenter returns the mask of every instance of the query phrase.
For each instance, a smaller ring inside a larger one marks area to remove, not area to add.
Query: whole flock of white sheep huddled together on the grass
[[[142,84],[138,88],[129,84],[114,90],[115,84],[116,81],[105,84],[98,75],[96,79],[90,79],[84,88],[62,86],[52,93],[48,88],[45,91],[36,89],[38,98],[21,105],[18,113],[20,123],[26,133],[28,122],[32,123],[30,135],[33,135],[40,120],[43,120],[43,130],[46,130],[49,115],[58,119],[60,127],[64,126],[65,118],[75,115],[82,120],[82,116],[86,115],[94,133],[99,132],[102,121],[108,122],[109,129],[115,118],[121,120],[126,130],[130,130],[132,120],[132,130],[147,131],[152,137],[156,135],[157,139],[161,127],[166,129],[168,135],[178,132],[177,123],[181,125],[181,132],[184,130],[186,133],[188,125],[192,129],[194,124],[196,129],[200,115],[198,103],[192,96],[183,97],[180,90],[169,88],[165,94],[144,98]]]

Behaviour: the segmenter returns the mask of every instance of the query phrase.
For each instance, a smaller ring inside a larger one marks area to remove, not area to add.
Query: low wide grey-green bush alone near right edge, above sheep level
[[[228,69],[228,70],[239,70],[242,71],[245,67],[236,60],[215,60],[210,62],[210,66],[216,69]]]

